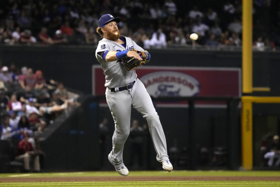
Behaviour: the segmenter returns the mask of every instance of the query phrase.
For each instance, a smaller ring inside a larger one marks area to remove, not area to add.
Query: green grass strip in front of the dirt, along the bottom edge
[[[114,187],[185,187],[185,186],[246,186],[246,187],[264,187],[264,186],[280,186],[279,181],[144,181],[144,182],[48,182],[48,183],[0,183],[0,186],[7,187],[64,187],[64,186],[114,186]]]

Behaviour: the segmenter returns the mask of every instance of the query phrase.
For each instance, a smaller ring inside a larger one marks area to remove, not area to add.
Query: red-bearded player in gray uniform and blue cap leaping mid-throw
[[[97,33],[103,39],[98,43],[95,56],[101,64],[105,75],[106,101],[115,122],[113,134],[113,149],[108,155],[108,160],[115,170],[122,176],[129,174],[122,160],[124,143],[130,129],[131,107],[139,111],[147,120],[150,135],[152,136],[157,161],[162,163],[165,171],[173,169],[169,161],[166,140],[159,116],[155,111],[152,100],[143,83],[137,78],[135,69],[128,71],[121,58],[131,57],[143,60],[141,56],[130,49],[144,51],[132,39],[120,36],[117,23],[120,18],[111,14],[101,16],[98,21]],[[150,60],[148,51],[144,51],[147,60]]]

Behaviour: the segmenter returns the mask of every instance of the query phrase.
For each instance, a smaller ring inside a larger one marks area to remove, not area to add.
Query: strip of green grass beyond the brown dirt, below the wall
[[[52,177],[52,176],[120,176],[109,172],[62,172],[62,173],[4,173],[0,177]],[[280,176],[280,171],[129,171],[129,176]]]

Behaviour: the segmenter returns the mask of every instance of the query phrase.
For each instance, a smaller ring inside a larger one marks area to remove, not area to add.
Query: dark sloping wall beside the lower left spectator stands
[[[43,171],[99,170],[98,103],[87,97],[53,133],[41,141]]]

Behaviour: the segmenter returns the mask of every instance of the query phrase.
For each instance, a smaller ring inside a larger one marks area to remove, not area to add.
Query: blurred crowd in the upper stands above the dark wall
[[[255,0],[253,7],[254,46],[275,51],[280,46],[279,4]],[[267,15],[261,13],[264,9],[269,10]],[[241,0],[1,0],[0,43],[96,45],[98,19],[106,13],[121,17],[120,33],[146,49],[221,48],[241,46],[242,42]],[[197,33],[199,39],[190,40],[191,33]]]

